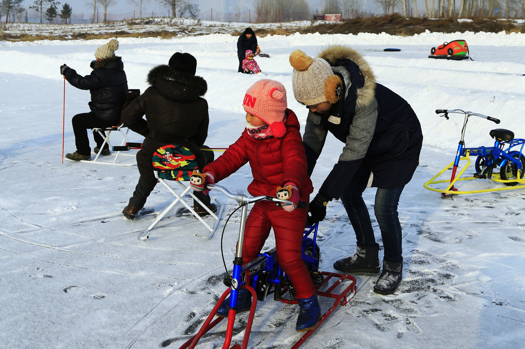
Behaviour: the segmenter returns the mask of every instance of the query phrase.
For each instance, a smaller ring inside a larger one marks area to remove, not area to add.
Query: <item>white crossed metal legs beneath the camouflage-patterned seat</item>
[[[208,234],[196,234],[196,236],[199,236],[199,237],[206,237],[206,238],[212,238],[213,234],[215,234],[215,231],[217,230],[217,227],[219,225],[219,222],[220,222],[220,217],[222,216],[222,213],[224,211],[224,205],[220,205],[218,204],[218,213],[215,214],[213,213],[209,208],[208,206],[206,206],[205,204],[202,203],[201,200],[199,200],[194,194],[193,192],[190,191],[191,187],[190,186],[185,186],[181,181],[175,181],[177,182],[180,186],[181,186],[181,189],[182,191],[181,192],[176,192],[172,187],[170,187],[170,185],[168,183],[166,183],[166,181],[162,178],[159,178],[159,174],[157,171],[154,171],[155,172],[155,177],[159,180],[159,182],[161,182],[164,187],[167,188],[167,190],[169,190],[173,196],[175,197],[175,200],[173,200],[165,209],[164,211],[162,211],[155,219],[155,221],[153,223],[151,223],[151,225],[148,227],[148,229],[146,229],[146,231],[140,236],[140,239],[141,240],[145,240],[145,239],[148,239],[150,237],[149,233],[150,231],[155,227],[155,225],[157,225],[163,218],[164,216],[170,212],[170,210],[173,208],[173,206],[175,206],[178,202],[182,203],[186,209],[188,209],[195,217],[196,219],[198,219],[205,227],[206,229],[208,230]],[[206,222],[203,217],[199,216],[197,212],[195,212],[195,210],[193,209],[192,205],[188,204],[184,199],[184,195],[190,195],[190,197],[192,197],[193,199],[195,199],[195,201],[197,201],[199,203],[199,205],[201,205],[201,207],[203,207],[206,211],[208,211],[209,213],[209,216],[213,217],[213,226],[212,225],[209,225],[208,222]]]

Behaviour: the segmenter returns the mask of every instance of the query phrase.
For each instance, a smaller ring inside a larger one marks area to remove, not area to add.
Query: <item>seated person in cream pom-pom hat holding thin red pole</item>
[[[111,39],[95,51],[95,60],[90,66],[91,74],[82,77],[66,64],[60,67],[60,74],[77,89],[89,90],[90,112],[77,114],[72,119],[77,150],[66,154],[70,160],[91,160],[91,148],[87,129],[116,126],[120,123],[120,113],[128,95],[128,80],[124,72],[122,58],[115,56],[119,42]],[[104,142],[98,132],[93,132],[97,153]],[[102,155],[109,155],[109,145],[104,145]]]

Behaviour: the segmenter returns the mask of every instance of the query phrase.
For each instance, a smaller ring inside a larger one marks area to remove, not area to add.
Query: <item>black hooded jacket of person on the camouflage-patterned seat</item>
[[[148,73],[151,85],[122,112],[122,122],[146,137],[142,149],[153,152],[166,144],[198,150],[208,136],[208,102],[202,97],[206,80],[161,65]],[[142,116],[145,115],[146,119]]]

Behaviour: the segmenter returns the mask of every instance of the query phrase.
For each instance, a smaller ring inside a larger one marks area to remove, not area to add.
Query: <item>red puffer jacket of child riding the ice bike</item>
[[[287,109],[286,113],[286,134],[283,137],[254,139],[245,129],[223,155],[204,167],[203,172],[211,172],[218,182],[249,162],[254,178],[248,186],[250,195],[275,197],[277,187],[293,182],[298,186],[299,199],[309,201],[313,186],[307,173],[299,121],[291,110]]]

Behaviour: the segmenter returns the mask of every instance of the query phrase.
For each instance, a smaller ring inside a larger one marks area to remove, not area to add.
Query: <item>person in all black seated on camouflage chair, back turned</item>
[[[135,218],[155,188],[157,179],[151,161],[158,148],[176,144],[190,149],[199,169],[214,158],[213,151],[200,150],[208,136],[208,102],[203,98],[208,85],[195,75],[196,69],[197,60],[190,53],[174,53],[167,66],[161,64],[150,70],[150,87],[122,112],[124,125],[145,137],[137,153],[139,183],[122,211],[128,219]],[[144,115],[146,119],[142,118]],[[202,192],[195,195],[212,212],[217,211],[209,195]],[[199,215],[209,214],[196,201],[193,206]]]

